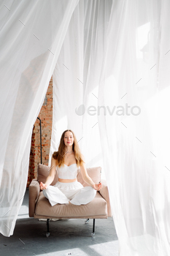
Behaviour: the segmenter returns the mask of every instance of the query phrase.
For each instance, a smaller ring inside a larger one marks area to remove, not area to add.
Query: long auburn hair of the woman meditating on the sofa
[[[75,159],[76,159],[77,166],[78,167],[82,166],[82,163],[84,161],[82,160],[82,154],[80,152],[79,144],[77,143],[77,138],[74,135],[74,132],[72,131],[72,129],[66,129],[66,131],[63,132],[63,134],[61,135],[61,141],[60,141],[60,145],[58,147],[58,151],[55,151],[53,153],[52,157],[54,159],[58,160],[58,167],[61,167],[61,165],[64,164],[64,158],[63,157],[66,154],[65,153],[66,145],[63,142],[63,138],[64,138],[66,132],[72,132],[72,135],[73,135],[73,138],[74,138],[74,143],[73,143],[73,146],[72,146],[72,150],[74,151],[74,156],[75,156]]]

